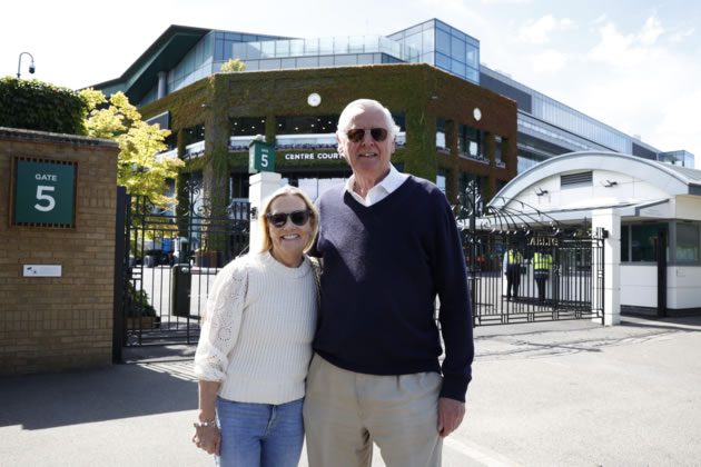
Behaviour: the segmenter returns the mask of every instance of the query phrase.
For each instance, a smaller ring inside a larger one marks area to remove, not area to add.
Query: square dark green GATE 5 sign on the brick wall
[[[73,225],[76,163],[17,160],[14,223]]]

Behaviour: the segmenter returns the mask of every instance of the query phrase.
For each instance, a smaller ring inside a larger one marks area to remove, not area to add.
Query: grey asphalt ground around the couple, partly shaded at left
[[[701,465],[700,331],[701,317],[476,328],[467,414],[443,465]],[[0,465],[214,465],[190,443],[192,352],[0,377]]]

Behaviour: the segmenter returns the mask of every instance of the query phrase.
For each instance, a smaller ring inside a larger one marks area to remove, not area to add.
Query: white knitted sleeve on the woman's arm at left
[[[248,294],[248,270],[233,264],[217,276],[207,298],[205,322],[195,352],[195,376],[205,381],[226,379],[229,354],[240,329]]]

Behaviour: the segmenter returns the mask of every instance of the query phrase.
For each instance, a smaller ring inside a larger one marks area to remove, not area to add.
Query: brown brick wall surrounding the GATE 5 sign
[[[113,141],[0,128],[0,374],[110,365],[117,155]],[[73,229],[10,225],[13,156],[78,162]],[[27,264],[62,276],[22,277]]]

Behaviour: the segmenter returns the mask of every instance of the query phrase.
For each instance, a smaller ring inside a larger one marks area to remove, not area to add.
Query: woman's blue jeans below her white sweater
[[[218,398],[221,451],[217,465],[297,467],[304,441],[303,401],[276,406]]]

